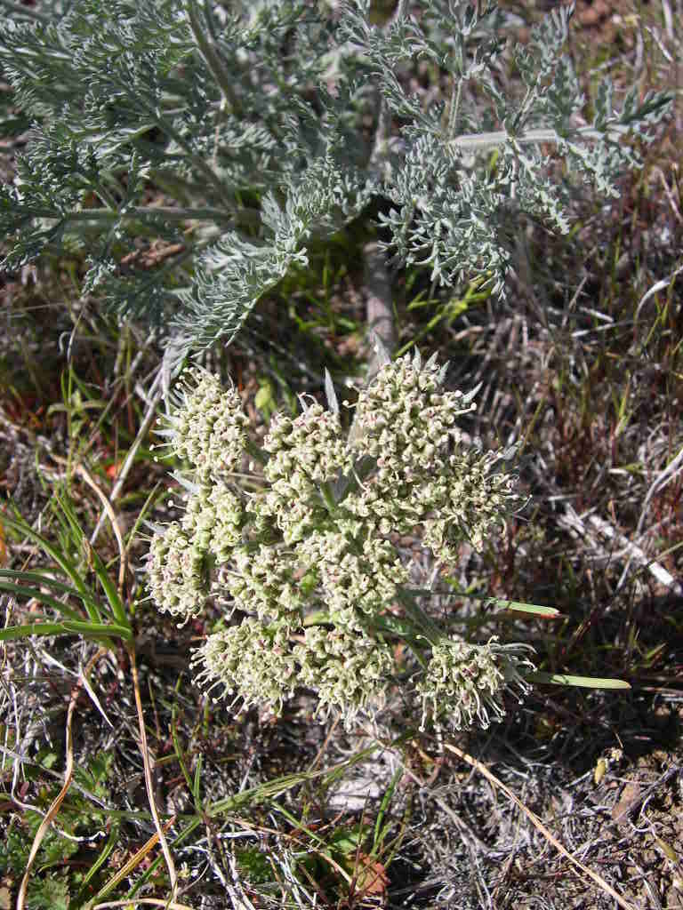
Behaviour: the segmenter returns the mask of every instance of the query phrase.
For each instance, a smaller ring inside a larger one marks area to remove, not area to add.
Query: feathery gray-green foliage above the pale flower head
[[[8,19],[0,67],[32,130],[0,191],[5,268],[85,251],[84,291],[158,319],[182,354],[232,337],[313,238],[380,199],[400,260],[502,291],[518,213],[568,228],[568,184],[540,144],[614,193],[636,161],[624,135],[646,136],[668,106],[634,87],[615,112],[606,81],[586,124],[566,10],[515,48],[522,91],[507,96],[494,8],[402,0],[382,29],[369,7],[74,0]],[[407,90],[418,60],[447,74],[443,100]],[[175,255],[145,262],[157,238]]]

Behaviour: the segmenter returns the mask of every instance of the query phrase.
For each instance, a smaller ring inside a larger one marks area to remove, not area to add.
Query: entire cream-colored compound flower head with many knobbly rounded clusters
[[[400,536],[452,564],[524,505],[500,470],[514,450],[464,447],[457,420],[474,396],[444,379],[434,358],[386,363],[359,393],[352,434],[336,402],[301,399],[253,458],[238,392],[189,371],[161,430],[187,465],[175,475],[185,511],[152,541],[148,579],[182,622],[210,598],[229,606],[192,661],[209,691],[279,713],[305,686],[321,715],[351,724],[408,684],[423,724],[455,728],[486,727],[505,714],[505,690],[527,692],[528,646],[454,638],[408,590]]]

